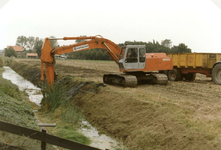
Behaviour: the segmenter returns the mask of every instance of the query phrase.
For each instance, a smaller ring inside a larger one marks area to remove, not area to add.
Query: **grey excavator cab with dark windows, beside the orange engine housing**
[[[127,45],[121,48],[118,65],[122,70],[145,68],[145,45]]]

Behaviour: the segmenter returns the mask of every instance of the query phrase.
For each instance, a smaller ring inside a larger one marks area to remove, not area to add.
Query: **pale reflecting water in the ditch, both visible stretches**
[[[43,98],[41,89],[34,86],[30,81],[24,79],[10,67],[4,66],[4,69],[5,71],[2,74],[3,78],[11,80],[11,82],[16,84],[20,90],[25,91],[29,95],[30,101],[40,106],[41,99]],[[85,126],[87,127],[85,128]],[[79,132],[91,139],[92,143],[90,146],[109,150],[125,149],[111,137],[104,134],[99,135],[97,129],[92,127],[87,121],[82,121],[82,127],[79,129]]]

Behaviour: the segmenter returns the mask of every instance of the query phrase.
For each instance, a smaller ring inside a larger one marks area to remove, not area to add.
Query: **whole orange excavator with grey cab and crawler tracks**
[[[68,46],[52,48],[50,40],[84,40]],[[146,53],[145,45],[119,47],[100,35],[89,37],[46,38],[41,52],[41,80],[44,81],[44,65],[48,85],[54,82],[55,54],[71,53],[89,49],[105,49],[123,73],[104,74],[105,84],[135,87],[138,83],[166,85],[168,78],[159,73],[173,69],[173,60],[165,53]],[[159,71],[159,72],[158,72]]]

